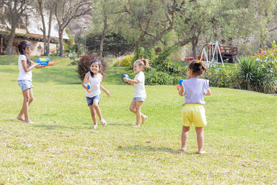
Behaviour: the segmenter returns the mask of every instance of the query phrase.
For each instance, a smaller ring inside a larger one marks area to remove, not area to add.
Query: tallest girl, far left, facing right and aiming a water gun
[[[24,121],[25,123],[33,124],[34,122],[29,118],[29,106],[33,101],[33,85],[31,83],[32,69],[34,67],[40,69],[49,65],[53,65],[53,62],[49,63],[48,65],[39,66],[39,63],[35,63],[30,60],[29,55],[33,50],[33,45],[28,42],[28,40],[20,42],[18,45],[18,50],[20,55],[18,58],[19,76],[17,78],[17,82],[21,87],[23,94],[23,105],[17,116],[17,119]]]

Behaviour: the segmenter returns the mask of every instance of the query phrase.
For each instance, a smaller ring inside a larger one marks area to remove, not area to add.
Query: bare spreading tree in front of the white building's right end
[[[64,42],[62,35],[64,29],[72,19],[86,15],[92,9],[92,0],[60,0],[55,1],[54,10],[57,19],[60,42],[60,56],[64,56]]]

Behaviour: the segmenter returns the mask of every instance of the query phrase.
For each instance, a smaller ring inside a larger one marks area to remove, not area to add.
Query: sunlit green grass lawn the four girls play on
[[[17,60],[16,60],[17,61]],[[206,97],[206,155],[197,155],[195,130],[181,147],[181,103],[175,86],[146,86],[142,112],[132,127],[129,69],[110,68],[100,109],[108,125],[92,130],[75,67],[33,70],[30,118],[22,105],[18,67],[0,65],[0,184],[277,184],[277,97],[211,88]]]

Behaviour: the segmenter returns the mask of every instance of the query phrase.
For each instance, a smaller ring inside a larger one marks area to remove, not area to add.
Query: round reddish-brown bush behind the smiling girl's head
[[[102,67],[100,68],[100,73],[105,76],[107,64],[103,58],[98,57],[98,55],[84,55],[78,61],[77,73],[80,80],[84,80],[84,76],[89,72],[89,63],[91,60],[98,59],[101,61]]]

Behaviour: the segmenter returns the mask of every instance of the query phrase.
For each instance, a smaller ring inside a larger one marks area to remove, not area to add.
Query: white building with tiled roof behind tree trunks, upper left
[[[7,11],[7,7],[0,9],[0,16],[4,15]],[[46,35],[48,35],[48,15],[44,15],[44,21],[46,26]],[[10,34],[11,25],[8,19],[5,19],[4,16],[0,17],[0,53],[5,53],[6,46],[8,44],[8,35]],[[63,33],[64,42],[69,39],[69,36]],[[18,54],[17,46],[19,42],[27,39],[32,42],[34,49],[31,55],[44,55],[44,42],[43,42],[43,33],[42,33],[42,19],[39,15],[36,15],[35,12],[28,12],[28,15],[24,15],[19,21],[17,28],[15,30],[15,39],[12,42],[12,53]],[[55,15],[52,17],[52,26],[51,26],[51,42],[50,42],[50,53],[57,53],[57,44],[59,40],[57,20]]]

